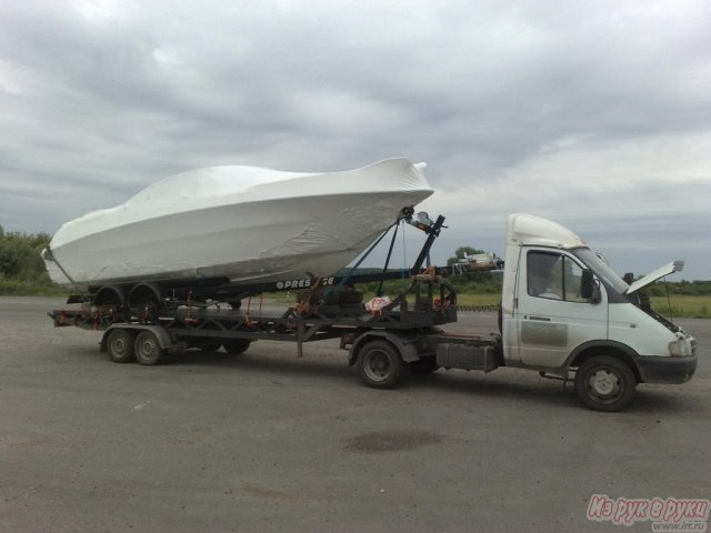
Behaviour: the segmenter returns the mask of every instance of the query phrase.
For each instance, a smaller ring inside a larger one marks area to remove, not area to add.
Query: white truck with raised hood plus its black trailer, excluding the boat
[[[424,219],[428,223],[421,222]],[[427,242],[409,272],[408,288],[374,312],[367,312],[354,298],[353,284],[367,281],[356,275],[283,280],[273,286],[239,288],[239,294],[203,290],[197,300],[199,288],[184,298],[179,294],[186,294],[186,288],[146,283],[139,292],[153,298],[139,304],[124,301],[121,288],[111,286],[72,296],[69,303],[83,302],[81,309],[50,315],[57,326],[106,330],[101,350],[119,363],[158,364],[186,349],[222,346],[240,354],[258,340],[297,342],[301,355],[304,342],[336,338],[370,386],[394,386],[408,369],[490,372],[513,366],[573,379],[581,402],[599,411],[629,405],[638,383],[683,383],[693,375],[694,339],[655,313],[639,293],[683,263],[672,262],[628,284],[578,235],[529,214],[512,214],[508,221],[500,332],[485,339],[444,333],[439,326],[457,321],[457,294],[440,275],[444,270],[422,269],[443,221],[443,217],[437,222],[424,217],[413,221],[408,215],[408,222],[428,234]],[[387,264],[383,278],[385,270]],[[368,278],[372,281],[372,275]],[[250,311],[249,304],[244,309],[234,302],[232,309],[209,309],[210,298],[234,301],[290,288],[306,291],[296,306],[283,312]],[[107,293],[113,300],[100,301]]]

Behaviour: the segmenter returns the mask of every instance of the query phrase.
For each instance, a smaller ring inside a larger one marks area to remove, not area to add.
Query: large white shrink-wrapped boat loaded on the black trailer
[[[67,222],[42,257],[54,282],[89,288],[326,276],[432,194],[424,168],[400,158],[346,172],[193,170]]]

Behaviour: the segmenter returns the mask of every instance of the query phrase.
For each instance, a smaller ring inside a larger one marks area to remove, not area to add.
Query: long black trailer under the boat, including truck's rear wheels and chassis
[[[241,354],[259,340],[293,342],[301,358],[306,342],[340,339],[341,349],[349,350],[349,363],[374,388],[394,386],[405,366],[420,373],[440,366],[490,371],[495,368],[500,339],[452,336],[438,328],[457,321],[457,293],[444,278],[449,269],[422,268],[422,263],[443,222],[443,217],[414,222],[428,239],[407,272],[388,270],[385,263],[379,273],[231,286],[229,294],[218,288],[211,295],[230,301],[227,305],[217,300],[206,303],[206,288],[196,291],[200,294],[197,300],[188,292],[187,298],[173,294],[157,302],[154,294],[140,306],[101,301],[108,289],[114,289],[98,288],[92,295],[69,298],[80,309],[49,314],[58,328],[103,331],[101,352],[117,363],[156,365],[172,353],[194,348]],[[389,252],[394,238],[395,233]],[[384,280],[403,276],[408,285],[398,296],[370,312],[364,310],[357,284],[379,281],[382,286]],[[289,290],[302,291],[296,305],[283,311],[263,308],[263,292]]]

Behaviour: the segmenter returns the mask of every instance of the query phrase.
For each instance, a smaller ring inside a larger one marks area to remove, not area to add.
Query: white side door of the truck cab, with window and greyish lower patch
[[[583,266],[571,254],[529,249],[519,269],[519,360],[533,366],[557,368],[568,354],[591,340],[608,338],[608,301],[592,303],[580,295]]]

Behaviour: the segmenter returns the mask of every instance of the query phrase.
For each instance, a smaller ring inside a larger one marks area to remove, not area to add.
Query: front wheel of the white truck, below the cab
[[[595,355],[584,361],[575,373],[575,393],[595,411],[622,411],[634,398],[637,378],[623,361]]]

